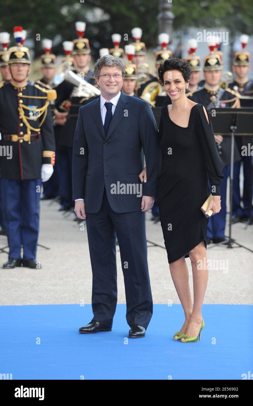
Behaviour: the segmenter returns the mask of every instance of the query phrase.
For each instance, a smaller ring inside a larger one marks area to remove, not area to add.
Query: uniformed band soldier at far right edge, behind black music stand
[[[250,54],[245,51],[245,46],[249,41],[248,35],[241,35],[240,42],[242,44],[242,51],[236,52],[233,59],[233,72],[236,78],[229,84],[229,88],[237,91],[240,95],[253,97],[253,81],[249,80],[248,72],[251,70]],[[253,100],[253,99],[252,99]],[[253,104],[251,104],[253,106]],[[252,145],[252,136],[235,137],[238,149],[242,151],[242,145]],[[233,205],[232,205],[232,221],[238,222],[249,218],[249,201],[250,193],[252,196],[252,179],[251,179],[251,160],[252,157],[240,155],[240,161],[234,162],[233,166]],[[240,197],[240,168],[243,165],[243,196]],[[251,185],[251,186],[250,186]],[[241,207],[241,200],[243,201],[243,208]],[[251,206],[251,210],[253,207]]]

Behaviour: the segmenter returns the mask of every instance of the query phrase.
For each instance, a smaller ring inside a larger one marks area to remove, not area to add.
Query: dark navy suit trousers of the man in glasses
[[[140,197],[142,199],[142,197]],[[145,212],[114,212],[104,189],[98,213],[86,213],[92,264],[94,320],[111,327],[117,304],[116,234],[126,292],[126,321],[147,328],[153,314],[148,275]]]

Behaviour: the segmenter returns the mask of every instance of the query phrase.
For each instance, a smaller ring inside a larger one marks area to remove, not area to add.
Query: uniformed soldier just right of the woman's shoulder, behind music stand
[[[210,54],[204,58],[203,74],[205,84],[203,89],[196,91],[191,99],[203,104],[207,110],[224,107],[240,107],[240,95],[235,91],[220,88],[220,79],[222,76],[222,61],[220,55],[214,52],[216,41],[209,42]],[[219,145],[219,153],[226,164],[222,171],[224,178],[220,185],[221,210],[215,216],[209,218],[207,225],[207,244],[214,242],[226,242],[225,225],[226,225],[226,196],[227,196],[227,178],[229,176],[231,137],[215,135],[216,143]],[[235,160],[240,159],[239,151],[235,145]],[[210,188],[210,184],[209,184]]]

